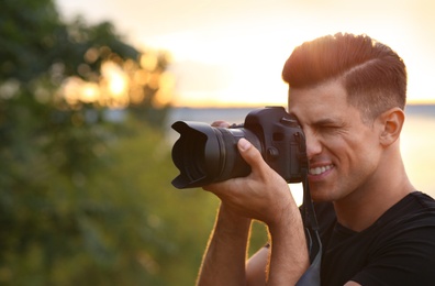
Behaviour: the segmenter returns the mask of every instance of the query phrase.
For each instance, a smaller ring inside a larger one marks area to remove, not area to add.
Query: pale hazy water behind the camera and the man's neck
[[[253,108],[178,108],[168,119],[168,129],[178,120],[211,123],[225,120],[243,123]],[[408,175],[414,187],[435,198],[435,105],[408,106],[406,121],[401,135],[401,148]],[[170,129],[168,140],[172,144],[178,133]]]

